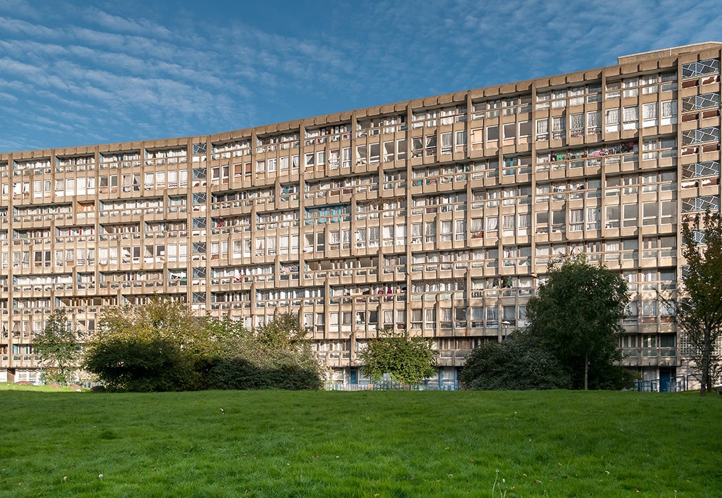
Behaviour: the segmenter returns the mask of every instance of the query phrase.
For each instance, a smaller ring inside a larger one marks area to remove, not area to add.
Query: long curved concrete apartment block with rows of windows
[[[469,349],[523,326],[550,258],[619,271],[619,346],[686,372],[657,291],[720,207],[722,43],[208,136],[0,154],[0,381],[35,380],[53,307],[92,331],[154,295],[253,326],[299,313],[331,380],[378,328]],[[542,280],[543,281],[543,280]]]

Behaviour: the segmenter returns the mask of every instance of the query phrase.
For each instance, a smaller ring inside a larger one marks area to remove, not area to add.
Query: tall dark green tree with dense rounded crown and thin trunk
[[[619,274],[592,266],[584,255],[549,264],[549,279],[526,305],[529,333],[569,370],[575,388],[618,388],[626,383],[617,349],[629,302]]]

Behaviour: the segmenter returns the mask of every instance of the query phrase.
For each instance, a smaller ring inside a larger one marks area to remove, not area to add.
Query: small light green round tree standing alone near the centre
[[[380,331],[360,354],[361,372],[374,382],[385,373],[402,384],[417,384],[436,372],[436,351],[430,339]]]

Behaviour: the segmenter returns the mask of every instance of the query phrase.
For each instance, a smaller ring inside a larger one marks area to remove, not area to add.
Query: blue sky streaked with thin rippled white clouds
[[[0,152],[214,134],[721,40],[718,0],[0,0]]]

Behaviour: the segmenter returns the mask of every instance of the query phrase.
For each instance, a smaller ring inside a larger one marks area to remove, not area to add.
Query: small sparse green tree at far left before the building
[[[32,343],[45,367],[43,381],[71,383],[80,359],[81,334],[67,326],[64,309],[53,310],[45,328],[33,337]]]

